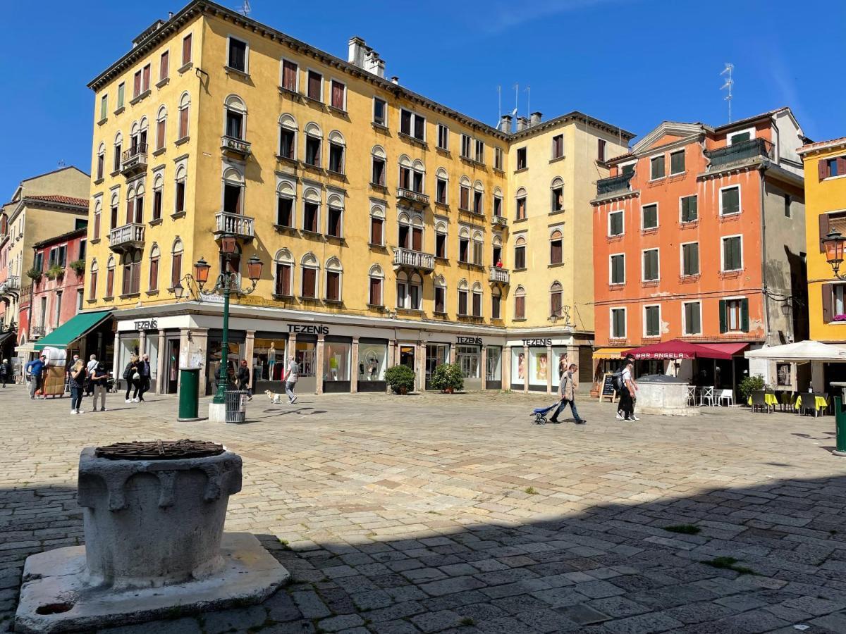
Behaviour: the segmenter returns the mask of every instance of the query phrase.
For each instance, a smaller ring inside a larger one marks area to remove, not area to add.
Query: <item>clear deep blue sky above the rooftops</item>
[[[89,171],[85,85],[184,3],[4,3],[3,201],[58,161]],[[497,85],[510,112],[514,84],[519,114],[530,95],[544,118],[581,110],[636,134],[665,119],[726,123],[719,73],[731,62],[734,118],[790,106],[810,138],[846,135],[844,0],[252,0],[251,17],[343,58],[349,37],[361,36],[387,60],[387,75],[491,124]]]

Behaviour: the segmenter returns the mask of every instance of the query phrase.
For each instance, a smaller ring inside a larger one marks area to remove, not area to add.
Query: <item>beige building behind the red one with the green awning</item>
[[[33,245],[61,233],[85,227],[91,178],[77,167],[26,178],[0,212],[0,265],[6,279],[0,286],[3,323],[19,320],[19,303],[32,292]],[[45,333],[18,328],[17,343],[24,346]],[[19,353],[25,352],[21,348]]]

